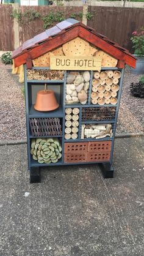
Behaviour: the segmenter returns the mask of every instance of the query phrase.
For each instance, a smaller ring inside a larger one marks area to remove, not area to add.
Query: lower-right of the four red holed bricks
[[[91,152],[87,154],[87,162],[104,162],[110,160],[110,152]]]

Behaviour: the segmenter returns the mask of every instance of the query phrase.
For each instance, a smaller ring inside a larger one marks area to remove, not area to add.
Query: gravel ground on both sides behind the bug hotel
[[[0,141],[26,140],[25,106],[21,86],[9,72],[12,66],[5,66],[0,62],[0,68]],[[143,132],[144,100],[132,97],[129,91],[131,82],[138,82],[140,77],[141,75],[131,74],[131,70],[126,68],[118,113],[117,134]]]

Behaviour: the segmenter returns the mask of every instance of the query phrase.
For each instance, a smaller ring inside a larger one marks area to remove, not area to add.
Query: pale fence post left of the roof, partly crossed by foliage
[[[20,5],[13,4],[13,11],[16,10],[20,12]],[[13,31],[14,31],[14,48],[18,48],[20,46],[20,37],[19,37],[19,21],[16,18],[13,19]]]

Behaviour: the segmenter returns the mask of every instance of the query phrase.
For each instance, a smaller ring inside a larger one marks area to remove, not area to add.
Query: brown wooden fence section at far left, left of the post
[[[12,51],[14,48],[14,31],[12,5],[0,4],[0,50]]]

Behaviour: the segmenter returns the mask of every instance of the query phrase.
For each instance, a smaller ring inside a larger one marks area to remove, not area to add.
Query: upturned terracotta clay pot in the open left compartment
[[[34,108],[38,111],[52,111],[56,110],[56,108],[59,108],[59,104],[57,103],[54,91],[38,91]]]

